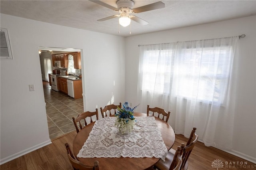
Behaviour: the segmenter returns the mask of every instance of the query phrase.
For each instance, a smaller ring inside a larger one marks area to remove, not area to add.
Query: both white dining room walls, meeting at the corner
[[[5,14],[0,14],[0,19],[1,28],[8,29],[14,58],[0,61],[1,164],[50,143],[38,46],[82,49],[85,109],[94,110],[104,107],[111,98],[116,104],[123,103],[124,92],[125,101],[138,104],[138,44],[241,34],[246,38],[240,40],[232,152],[256,161],[256,16],[129,38]],[[29,91],[30,84],[35,85],[36,91]]]

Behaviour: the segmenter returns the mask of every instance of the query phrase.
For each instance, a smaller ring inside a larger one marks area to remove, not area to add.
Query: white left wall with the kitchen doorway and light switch
[[[86,110],[104,107],[112,96],[114,103],[124,101],[124,38],[5,14],[0,19],[13,54],[0,61],[1,164],[50,143],[38,46],[82,50]]]

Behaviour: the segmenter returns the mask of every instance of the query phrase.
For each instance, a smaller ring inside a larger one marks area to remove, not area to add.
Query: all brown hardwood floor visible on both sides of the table
[[[20,156],[10,162],[2,164],[1,170],[73,170],[66,153],[64,144],[68,142],[72,146],[76,132],[71,132],[52,141],[52,144],[44,146],[38,150]],[[176,135],[173,148],[177,148],[180,143],[186,141],[183,135]],[[197,142],[188,158],[188,170],[216,170],[212,167],[212,162],[219,159],[223,162],[224,167],[218,170],[253,170],[256,164],[248,162],[213,147],[206,147],[203,143]],[[225,162],[239,162],[235,165],[226,165]],[[246,162],[246,168],[241,167],[240,162]],[[114,163],[114,162],[113,162]],[[118,163],[118,162],[116,162]],[[226,167],[228,166],[228,167]],[[104,167],[100,167],[104,169]]]

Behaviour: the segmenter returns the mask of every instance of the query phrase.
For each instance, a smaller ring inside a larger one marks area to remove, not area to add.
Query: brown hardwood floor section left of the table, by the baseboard
[[[2,164],[1,170],[73,170],[64,144],[72,146],[76,132],[52,140],[52,144]]]

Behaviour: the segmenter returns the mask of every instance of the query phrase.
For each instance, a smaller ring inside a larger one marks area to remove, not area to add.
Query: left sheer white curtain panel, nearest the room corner
[[[177,43],[140,46],[138,101],[147,105],[169,107]]]

